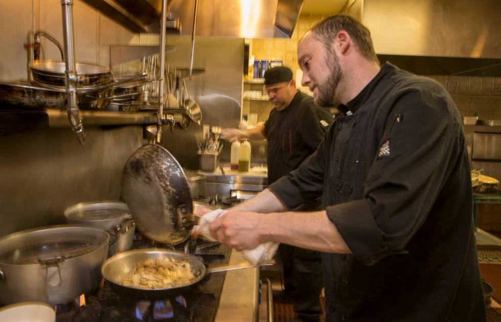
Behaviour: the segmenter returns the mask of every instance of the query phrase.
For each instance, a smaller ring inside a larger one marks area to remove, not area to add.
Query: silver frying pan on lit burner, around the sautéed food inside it
[[[148,260],[157,261],[166,258],[187,260],[188,263],[190,263],[191,272],[195,276],[195,279],[185,285],[163,289],[145,289],[140,287],[124,286],[120,283],[125,277],[129,276],[134,271],[138,264],[144,263]],[[275,262],[269,262],[263,264],[263,266],[274,264]],[[101,266],[101,273],[103,274],[105,280],[109,282],[111,288],[124,295],[131,295],[144,299],[156,299],[166,298],[171,295],[179,295],[191,290],[203,279],[203,277],[206,276],[207,273],[250,267],[255,266],[245,262],[234,266],[225,265],[214,268],[206,268],[206,266],[203,265],[203,262],[193,255],[175,252],[172,250],[146,248],[124,251],[110,257]]]

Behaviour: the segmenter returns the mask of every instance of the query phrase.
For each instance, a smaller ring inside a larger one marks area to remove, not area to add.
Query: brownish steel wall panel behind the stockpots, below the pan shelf
[[[143,144],[141,126],[87,127],[81,146],[69,128],[0,137],[0,237],[64,223],[66,207],[119,199],[127,158]]]

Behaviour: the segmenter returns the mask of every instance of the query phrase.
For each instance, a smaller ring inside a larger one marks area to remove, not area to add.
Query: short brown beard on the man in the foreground
[[[327,79],[322,83],[317,83],[318,94],[315,96],[315,103],[318,106],[335,106],[337,103],[334,99],[337,85],[343,76],[343,71],[339,66],[339,59],[332,50],[327,50],[327,66],[329,67],[330,74]]]

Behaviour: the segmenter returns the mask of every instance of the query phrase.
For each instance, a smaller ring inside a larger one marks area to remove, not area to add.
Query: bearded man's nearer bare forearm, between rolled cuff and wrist
[[[268,213],[262,220],[258,233],[264,241],[323,252],[351,253],[324,210]]]

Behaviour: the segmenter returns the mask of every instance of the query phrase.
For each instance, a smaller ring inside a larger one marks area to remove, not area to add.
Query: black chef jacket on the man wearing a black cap
[[[313,97],[298,91],[285,110],[271,110],[264,123],[268,141],[268,184],[296,169],[311,155],[332,123],[325,108]]]

